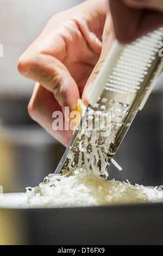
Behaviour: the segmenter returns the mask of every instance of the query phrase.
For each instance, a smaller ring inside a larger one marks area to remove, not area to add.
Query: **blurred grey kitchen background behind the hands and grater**
[[[34,82],[18,74],[17,60],[47,21],[82,0],[1,0],[0,2],[0,185],[4,192],[23,192],[53,173],[65,148],[30,119],[27,111]],[[108,168],[109,179],[163,185],[163,76]]]

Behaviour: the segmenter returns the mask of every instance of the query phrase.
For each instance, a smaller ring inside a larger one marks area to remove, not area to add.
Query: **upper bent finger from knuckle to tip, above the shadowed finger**
[[[19,61],[20,73],[53,93],[63,112],[66,106],[70,111],[76,110],[79,89],[65,65],[47,54],[38,53],[35,57],[29,54],[27,57],[27,53]]]

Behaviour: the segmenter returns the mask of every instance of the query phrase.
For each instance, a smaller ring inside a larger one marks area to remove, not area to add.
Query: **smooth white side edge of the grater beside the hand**
[[[121,45],[117,40],[112,45],[102,69],[99,71],[95,83],[93,83],[93,86],[90,89],[88,101],[91,106],[94,106],[98,101],[98,97],[101,96],[105,84],[112,73],[111,67],[114,67],[124,47],[125,46]]]

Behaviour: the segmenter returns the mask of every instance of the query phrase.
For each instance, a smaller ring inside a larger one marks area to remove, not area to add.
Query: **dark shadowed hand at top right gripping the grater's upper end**
[[[116,38],[122,44],[163,26],[162,0],[110,0]]]

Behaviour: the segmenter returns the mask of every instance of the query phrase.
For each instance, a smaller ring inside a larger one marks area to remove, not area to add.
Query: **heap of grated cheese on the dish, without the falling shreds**
[[[98,206],[163,202],[163,192],[127,182],[106,180],[92,170],[78,169],[71,176],[50,174],[37,187],[27,188],[23,208]]]

